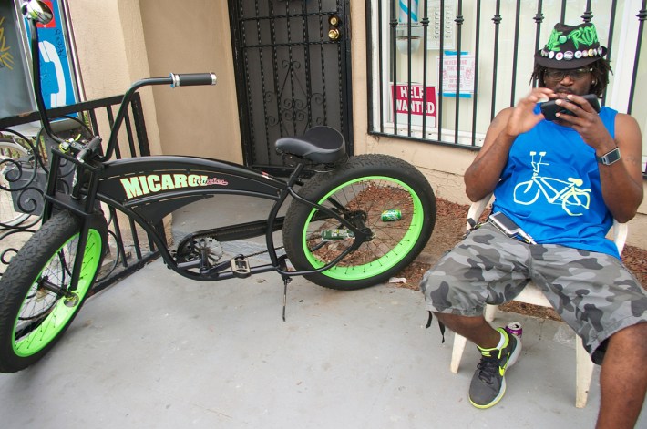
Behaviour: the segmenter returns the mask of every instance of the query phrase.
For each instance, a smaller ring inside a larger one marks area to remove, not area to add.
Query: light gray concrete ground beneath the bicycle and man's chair
[[[596,369],[574,407],[574,341],[560,322],[523,324],[508,393],[478,410],[468,347],[449,372],[453,334],[426,330],[419,292],[381,285],[329,291],[295,279],[282,322],[282,282],[187,281],[155,261],[87,301],[56,349],[0,374],[5,428],[593,427]],[[643,413],[638,427],[647,426]]]

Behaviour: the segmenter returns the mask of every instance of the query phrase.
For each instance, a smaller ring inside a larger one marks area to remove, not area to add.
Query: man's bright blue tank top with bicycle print
[[[609,107],[600,111],[611,138],[617,113]],[[620,258],[615,243],[605,238],[613,217],[602,199],[595,149],[572,128],[542,120],[519,135],[494,196],[493,209],[515,220],[539,244]]]

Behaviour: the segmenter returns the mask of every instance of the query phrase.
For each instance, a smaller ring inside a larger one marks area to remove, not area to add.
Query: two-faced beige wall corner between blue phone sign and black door
[[[216,87],[140,90],[154,154],[241,161],[226,0],[68,0],[86,99],[142,77],[214,72]]]

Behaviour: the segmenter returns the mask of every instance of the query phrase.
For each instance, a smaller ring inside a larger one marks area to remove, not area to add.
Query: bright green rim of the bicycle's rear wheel
[[[354,266],[348,266],[348,267],[335,266],[322,272],[322,274],[328,277],[331,277],[333,279],[344,280],[344,281],[360,281],[360,280],[367,279],[369,277],[374,277],[376,275],[379,275],[391,269],[400,260],[403,260],[406,257],[406,255],[409,253],[409,251],[413,249],[413,247],[416,245],[416,240],[423,229],[423,221],[424,221],[425,213],[422,208],[422,202],[420,201],[420,198],[417,196],[416,192],[414,192],[414,190],[411,189],[411,187],[409,187],[408,185],[406,185],[406,183],[397,179],[388,178],[385,176],[366,176],[359,179],[349,180],[339,185],[337,188],[328,192],[323,197],[323,199],[320,199],[317,202],[319,204],[323,204],[323,201],[328,199],[337,190],[342,189],[346,186],[352,185],[356,182],[367,181],[367,180],[383,180],[383,181],[388,181],[392,183],[397,183],[402,188],[406,189],[406,191],[411,196],[411,199],[413,199],[413,203],[414,203],[414,212],[411,219],[411,223],[409,224],[409,228],[406,230],[406,233],[403,236],[403,238],[397,243],[397,245],[395,245],[395,247],[392,250],[389,250],[389,252],[385,253],[385,255],[383,255],[382,257],[363,265],[354,265]],[[308,215],[308,219],[306,220],[306,223],[305,223],[306,225],[310,224],[310,221],[313,219],[314,213],[316,211],[317,211],[316,209],[313,209],[310,212],[310,215]],[[323,267],[325,265],[323,261],[316,258],[313,255],[313,253],[308,249],[307,228],[303,229],[302,242],[303,242],[303,253],[305,254],[305,257],[310,262],[310,264],[315,269]]]

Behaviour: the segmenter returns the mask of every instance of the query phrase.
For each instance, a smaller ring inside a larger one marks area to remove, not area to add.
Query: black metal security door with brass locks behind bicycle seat
[[[327,125],[352,153],[348,0],[230,0],[245,163],[280,174],[274,142]]]

